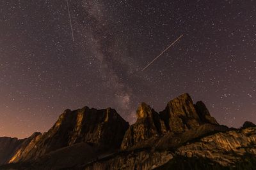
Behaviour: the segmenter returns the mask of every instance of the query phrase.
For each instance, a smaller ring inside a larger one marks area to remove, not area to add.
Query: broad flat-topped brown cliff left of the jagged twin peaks
[[[34,136],[10,159],[10,163],[37,159],[46,153],[81,142],[102,150],[115,150],[120,147],[128,127],[129,124],[111,108],[65,110],[48,132]]]

